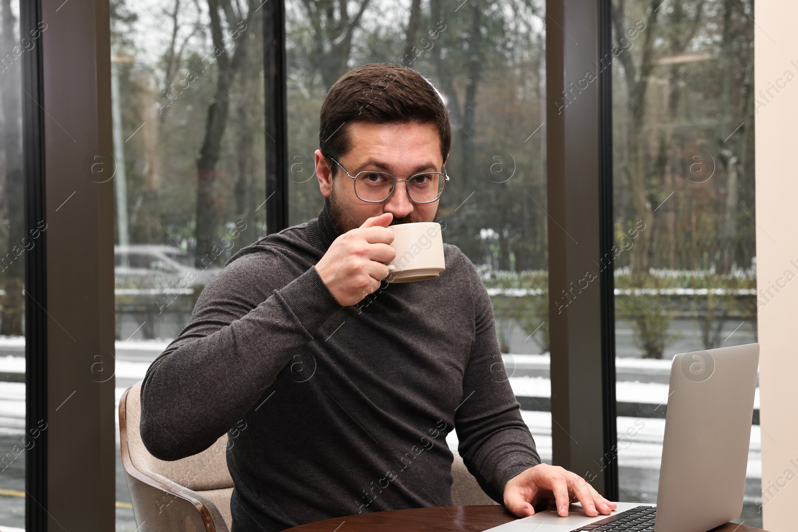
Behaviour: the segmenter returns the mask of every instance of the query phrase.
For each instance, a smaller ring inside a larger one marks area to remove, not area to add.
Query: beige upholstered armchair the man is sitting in
[[[205,530],[229,532],[233,480],[227,471],[227,435],[199,455],[164,462],[152,456],[139,433],[141,383],[119,401],[119,432],[124,475],[139,532]],[[460,455],[452,463],[455,506],[496,504],[476,483]]]

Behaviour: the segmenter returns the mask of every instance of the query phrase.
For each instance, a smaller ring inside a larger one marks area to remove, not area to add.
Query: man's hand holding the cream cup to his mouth
[[[386,263],[397,254],[389,246],[393,242],[393,231],[388,229],[391,220],[389,212],[367,219],[361,227],[336,238],[316,264],[319,277],[341,305],[359,303],[388,277]]]

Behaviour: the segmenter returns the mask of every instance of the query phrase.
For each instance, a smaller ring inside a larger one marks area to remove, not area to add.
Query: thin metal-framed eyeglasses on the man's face
[[[389,199],[396,190],[398,181],[405,181],[407,183],[407,197],[413,203],[433,203],[440,198],[440,194],[444,191],[444,184],[449,180],[446,175],[446,167],[443,172],[440,171],[425,171],[421,174],[414,174],[409,179],[397,179],[385,171],[359,171],[355,175],[351,175],[345,167],[342,166],[337,160],[332,157],[328,158],[349,175],[350,179],[354,181],[354,194],[358,199],[366,203],[382,203]]]

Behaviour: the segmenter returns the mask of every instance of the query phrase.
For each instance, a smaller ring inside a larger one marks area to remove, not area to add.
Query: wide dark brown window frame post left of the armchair
[[[26,253],[26,530],[111,530],[116,520],[113,164],[108,0],[20,3]],[[75,54],[89,61],[74,61]],[[57,164],[47,164],[47,161]],[[86,164],[86,161],[89,164]]]

